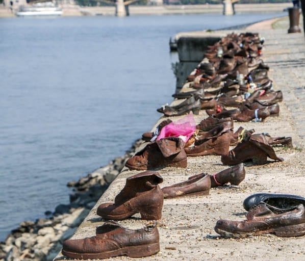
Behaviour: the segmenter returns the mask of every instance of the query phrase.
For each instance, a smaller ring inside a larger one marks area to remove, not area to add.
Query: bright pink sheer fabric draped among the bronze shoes
[[[184,142],[196,131],[196,123],[193,114],[188,114],[182,119],[171,122],[161,129],[157,141],[167,137],[179,137]]]

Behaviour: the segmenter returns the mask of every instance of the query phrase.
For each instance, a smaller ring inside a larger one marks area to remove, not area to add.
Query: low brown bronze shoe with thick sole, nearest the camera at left
[[[156,224],[141,229],[126,229],[115,221],[96,228],[96,236],[64,241],[62,254],[78,259],[104,259],[113,256],[144,257],[160,251]]]

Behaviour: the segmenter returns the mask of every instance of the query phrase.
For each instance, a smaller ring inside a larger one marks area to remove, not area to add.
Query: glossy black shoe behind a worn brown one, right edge
[[[298,204],[305,205],[305,198],[290,194],[257,193],[247,197],[243,204],[245,210],[249,211],[262,202],[277,208],[292,208]]]

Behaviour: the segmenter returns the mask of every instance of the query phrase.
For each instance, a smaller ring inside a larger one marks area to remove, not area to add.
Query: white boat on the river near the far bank
[[[37,3],[30,6],[20,6],[16,16],[60,16],[62,8],[55,6],[52,2]]]

